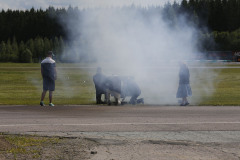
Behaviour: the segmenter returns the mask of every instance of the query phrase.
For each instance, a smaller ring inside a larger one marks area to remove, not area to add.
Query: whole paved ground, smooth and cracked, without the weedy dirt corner
[[[240,159],[237,106],[0,106],[0,132],[88,138],[92,160]]]

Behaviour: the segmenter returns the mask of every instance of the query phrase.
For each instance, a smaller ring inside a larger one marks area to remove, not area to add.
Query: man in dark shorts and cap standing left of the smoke
[[[52,92],[55,90],[55,80],[57,79],[57,71],[55,61],[52,59],[53,52],[49,51],[47,57],[41,62],[41,74],[43,78],[43,92],[41,96],[41,106],[45,106],[43,100],[46,92],[49,91],[49,106],[54,106],[52,103]]]

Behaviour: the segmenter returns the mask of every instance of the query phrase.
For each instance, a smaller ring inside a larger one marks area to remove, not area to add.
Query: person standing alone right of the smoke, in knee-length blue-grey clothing
[[[187,100],[188,96],[192,95],[191,86],[189,84],[190,74],[187,65],[183,62],[179,62],[179,86],[177,91],[177,98],[182,98],[181,106],[189,105]]]

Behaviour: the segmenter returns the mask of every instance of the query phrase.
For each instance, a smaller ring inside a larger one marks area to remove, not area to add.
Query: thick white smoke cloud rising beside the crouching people
[[[178,61],[191,60],[198,53],[197,29],[184,16],[170,25],[161,8],[149,12],[135,6],[81,11],[73,15],[74,20],[64,20],[71,38],[66,53],[92,60],[106,75],[134,77],[147,104],[173,105],[177,102]]]

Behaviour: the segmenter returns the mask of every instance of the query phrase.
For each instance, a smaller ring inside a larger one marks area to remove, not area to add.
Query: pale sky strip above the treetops
[[[182,0],[0,0],[0,9],[25,10],[34,7],[35,9],[46,9],[49,6],[55,8],[78,8],[100,7],[100,6],[123,6],[123,5],[164,5],[167,2],[180,3]]]

